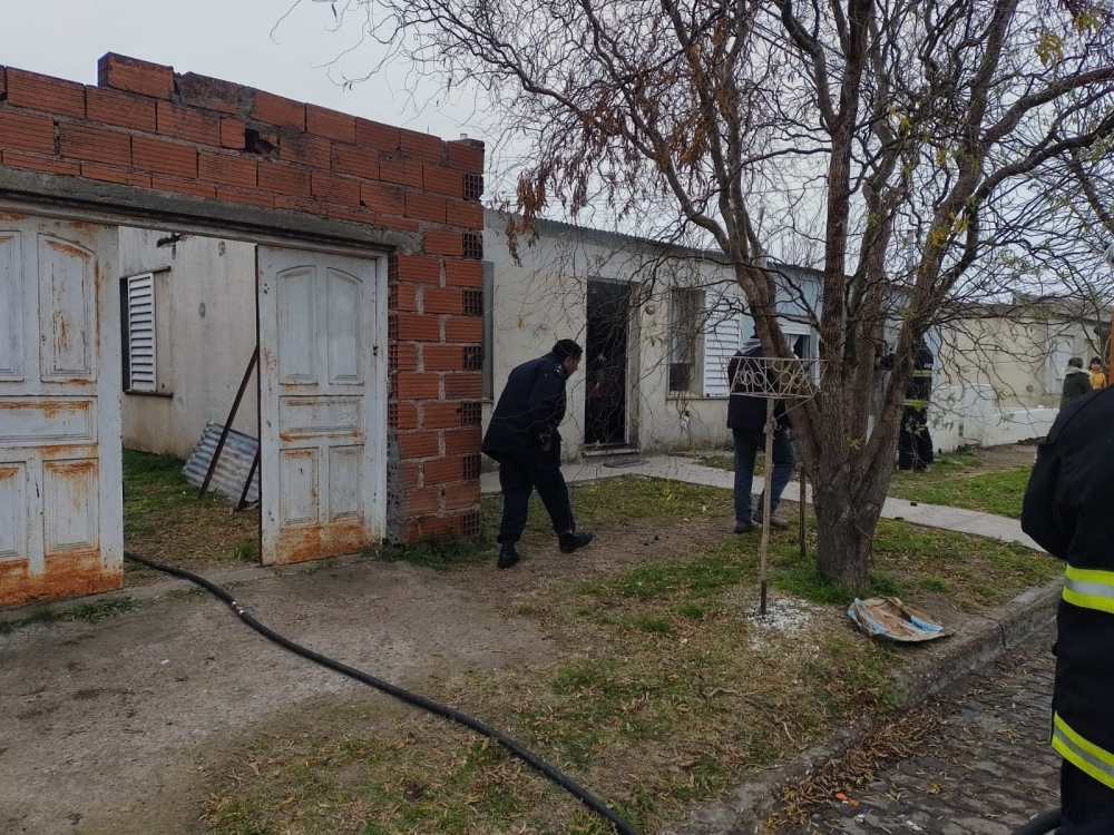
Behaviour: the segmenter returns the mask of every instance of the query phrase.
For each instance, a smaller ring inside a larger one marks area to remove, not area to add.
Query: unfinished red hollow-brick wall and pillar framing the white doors
[[[411,233],[389,275],[399,537],[479,528],[483,147],[116,55],[0,67],[0,165]],[[392,463],[392,466],[395,464]]]

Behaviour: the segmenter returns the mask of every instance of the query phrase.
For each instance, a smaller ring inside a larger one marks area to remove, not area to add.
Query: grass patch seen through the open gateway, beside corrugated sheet
[[[160,562],[204,569],[258,560],[258,509],[234,512],[223,495],[197,498],[174,455],[124,451],[124,548]],[[128,584],[160,578],[125,563]]]

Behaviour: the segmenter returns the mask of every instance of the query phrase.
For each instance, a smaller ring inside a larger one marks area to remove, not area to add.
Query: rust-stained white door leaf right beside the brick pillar
[[[377,262],[256,259],[263,563],[355,553],[382,538],[385,507]]]

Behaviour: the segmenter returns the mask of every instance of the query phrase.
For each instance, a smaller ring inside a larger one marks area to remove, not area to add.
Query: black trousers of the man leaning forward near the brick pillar
[[[560,471],[559,450],[560,446],[555,444],[548,452],[540,448],[526,448],[491,455],[499,462],[499,488],[502,490],[500,542],[517,542],[522,538],[530,510],[530,494],[535,490],[541,497],[541,503],[558,536],[576,530],[573,502]]]

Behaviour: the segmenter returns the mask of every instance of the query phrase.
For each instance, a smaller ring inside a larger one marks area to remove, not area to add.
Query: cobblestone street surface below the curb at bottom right
[[[939,721],[913,757],[813,808],[793,835],[1009,835],[1058,804],[1048,746],[1054,630],[960,681],[930,709]],[[852,805],[852,800],[857,805]]]

